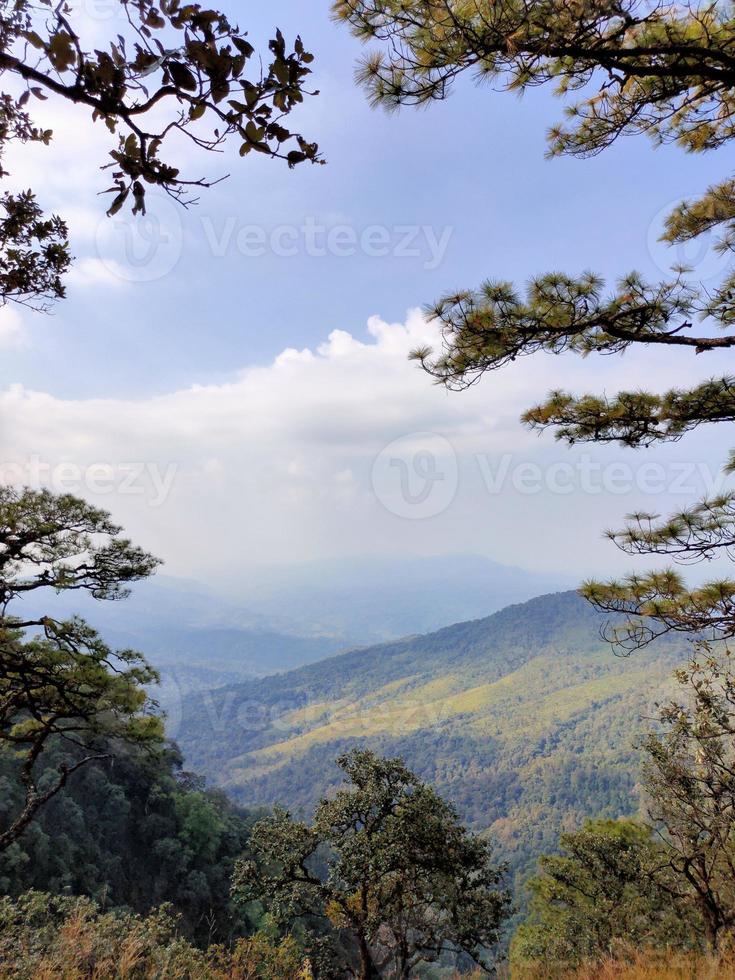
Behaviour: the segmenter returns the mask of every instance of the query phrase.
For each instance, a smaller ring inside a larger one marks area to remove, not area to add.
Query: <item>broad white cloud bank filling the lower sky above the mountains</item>
[[[0,393],[0,477],[109,507],[180,574],[391,551],[478,551],[572,570],[603,553],[603,526],[639,506],[667,506],[668,484],[657,489],[654,473],[641,498],[628,485],[637,471],[621,484],[621,465],[655,459],[715,471],[724,457],[712,443],[694,457],[691,444],[653,455],[570,452],[518,422],[550,379],[575,390],[656,387],[691,380],[684,359],[530,358],[450,394],[407,359],[437,341],[413,311],[404,324],[371,318],[364,340],[337,330],[316,350],[285,350],[227,383],[144,400],[66,400],[15,385]],[[403,448],[386,459],[394,445]],[[580,486],[582,471],[568,472],[575,466],[613,469]],[[684,496],[669,503],[685,505],[702,476],[692,470]],[[440,495],[427,503],[435,480]]]

